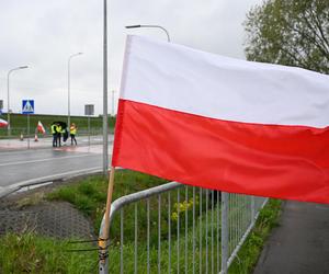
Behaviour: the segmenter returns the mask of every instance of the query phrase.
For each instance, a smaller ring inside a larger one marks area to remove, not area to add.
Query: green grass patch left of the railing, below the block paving
[[[77,246],[33,233],[0,238],[0,273],[98,273],[98,254],[68,252]],[[79,244],[79,249],[95,248]]]

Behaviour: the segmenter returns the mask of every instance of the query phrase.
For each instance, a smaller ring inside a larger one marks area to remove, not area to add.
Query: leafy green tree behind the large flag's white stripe
[[[329,0],[264,0],[245,30],[248,60],[329,75]]]

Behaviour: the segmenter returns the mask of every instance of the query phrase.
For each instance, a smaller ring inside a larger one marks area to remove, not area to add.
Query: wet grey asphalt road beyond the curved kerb
[[[112,147],[109,151],[112,152]],[[0,152],[0,187],[94,171],[102,169],[102,145]]]

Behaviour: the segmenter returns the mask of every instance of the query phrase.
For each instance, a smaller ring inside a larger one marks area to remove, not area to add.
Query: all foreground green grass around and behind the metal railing
[[[115,191],[113,199],[134,193],[140,190],[145,190],[167,181],[158,179],[155,176],[146,175],[138,172],[120,170],[115,174]],[[82,213],[89,216],[95,227],[95,232],[98,233],[101,218],[103,216],[105,201],[106,201],[106,190],[107,180],[101,175],[91,176],[81,180],[80,182],[72,183],[70,185],[61,186],[55,190],[53,193],[46,194],[48,199],[61,199],[73,204]],[[169,218],[171,220],[171,252],[170,252],[170,263],[171,270],[175,270],[178,263],[181,272],[185,271],[184,264],[184,252],[185,252],[185,237],[184,237],[184,216],[188,213],[188,224],[191,225],[192,221],[192,207],[193,202],[191,202],[192,193],[190,191],[181,191],[180,203],[174,198],[177,195],[171,196],[171,212],[172,214],[168,217],[164,214],[168,209],[167,195],[161,196],[161,204],[163,214],[160,216],[161,229],[161,254],[160,254],[160,267],[162,271],[169,267],[169,241],[168,241],[168,227],[166,224]],[[188,199],[185,198],[188,195]],[[207,194],[206,194],[207,195]],[[189,198],[190,197],[190,198]],[[205,210],[205,196],[203,196],[202,208]],[[195,206],[200,206],[200,201],[196,199]],[[209,208],[208,205],[207,208]],[[146,261],[147,261],[147,241],[146,241],[146,203],[141,202],[135,207],[129,206],[124,210],[124,242],[123,243],[123,255],[124,255],[124,273],[134,273],[134,252],[135,252],[135,238],[134,238],[134,212],[138,212],[138,237],[137,237],[137,267],[138,273],[146,273]],[[276,226],[276,220],[281,210],[281,202],[271,199],[268,205],[262,209],[257,225],[247,241],[242,246],[237,259],[232,262],[229,267],[229,273],[232,274],[243,274],[251,273],[254,267],[257,260],[260,255],[261,249],[266,237],[273,227]],[[198,210],[196,210],[198,212]],[[178,242],[175,237],[178,214],[181,215],[180,233],[181,238]],[[203,212],[202,218],[207,216],[208,219],[212,218],[211,212],[206,214]],[[203,231],[202,236],[202,247],[200,248],[200,238],[196,237],[195,242],[195,256],[193,260],[192,252],[192,230],[188,230],[188,272],[190,273],[194,266],[196,272],[200,267],[202,273],[206,271],[206,260],[207,270],[211,271],[212,265],[217,271],[217,253],[218,247],[214,243],[214,264],[212,264],[212,256],[206,256],[205,241],[208,242],[208,252],[211,251],[211,229],[205,228],[205,224],[200,224],[200,216],[195,215],[195,235],[198,236],[200,230]],[[150,231],[151,237],[149,239],[150,247],[150,273],[156,273],[158,271],[158,199],[150,199]],[[114,236],[111,240],[110,248],[110,271],[111,273],[120,273],[121,265],[121,239],[120,239],[120,216],[116,216],[112,222],[111,235]],[[208,233],[205,233],[208,229]],[[217,237],[215,230],[215,239]],[[219,229],[220,232],[220,229]],[[220,240],[220,235],[218,235]],[[180,250],[180,256],[178,258],[178,246]],[[50,239],[45,237],[35,236],[32,233],[16,236],[7,235],[0,238],[0,272],[3,273],[97,273],[98,272],[98,252],[79,252],[70,253],[66,252],[69,249],[90,249],[95,248],[92,244],[82,244],[77,247],[76,244],[69,244],[67,241],[61,241],[57,239]],[[219,247],[220,252],[220,247]],[[200,258],[202,258],[202,264],[200,265]]]

